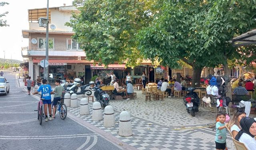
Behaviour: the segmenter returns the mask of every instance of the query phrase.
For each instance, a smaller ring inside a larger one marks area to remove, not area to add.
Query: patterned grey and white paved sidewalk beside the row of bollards
[[[19,80],[19,82],[22,80]],[[20,86],[25,88],[24,83]],[[53,88],[53,87],[52,87]],[[32,89],[33,90],[33,89]],[[70,108],[68,111],[99,128],[108,132],[123,142],[138,150],[213,150],[215,149],[215,132],[207,124],[215,122],[215,108],[199,108],[199,112],[192,117],[186,112],[182,98],[164,98],[164,101],[145,102],[145,95],[137,92],[135,100],[110,100],[109,104],[115,110],[116,126],[105,128],[104,120],[92,121],[92,103],[89,103],[89,115],[81,116],[80,107]],[[80,105],[81,95],[78,95]],[[87,97],[85,97],[87,98]],[[133,135],[122,137],[118,135],[119,114],[127,110],[131,115]],[[104,110],[102,109],[102,114]],[[103,116],[104,117],[104,116]],[[234,144],[227,133],[228,150],[235,150]]]

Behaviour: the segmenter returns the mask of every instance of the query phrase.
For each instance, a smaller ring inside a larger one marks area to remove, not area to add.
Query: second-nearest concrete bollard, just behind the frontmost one
[[[104,109],[104,127],[109,128],[116,126],[114,108],[110,105]]]

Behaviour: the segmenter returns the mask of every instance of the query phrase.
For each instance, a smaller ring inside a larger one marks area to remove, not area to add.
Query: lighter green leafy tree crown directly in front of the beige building
[[[126,62],[136,66],[142,60],[136,34],[152,21],[154,0],[75,0],[81,12],[66,25],[85,50],[86,58],[108,65]]]

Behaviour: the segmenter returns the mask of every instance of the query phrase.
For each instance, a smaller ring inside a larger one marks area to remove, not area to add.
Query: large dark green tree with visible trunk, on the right
[[[227,64],[242,54],[228,41],[255,28],[255,0],[163,0],[149,27],[138,34],[145,58],[176,68],[178,60],[193,67],[199,82],[204,66]],[[161,61],[162,60],[162,61]]]

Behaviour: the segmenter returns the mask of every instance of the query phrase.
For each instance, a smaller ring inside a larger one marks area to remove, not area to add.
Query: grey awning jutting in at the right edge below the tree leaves
[[[256,29],[248,31],[232,39],[233,46],[256,44]]]

